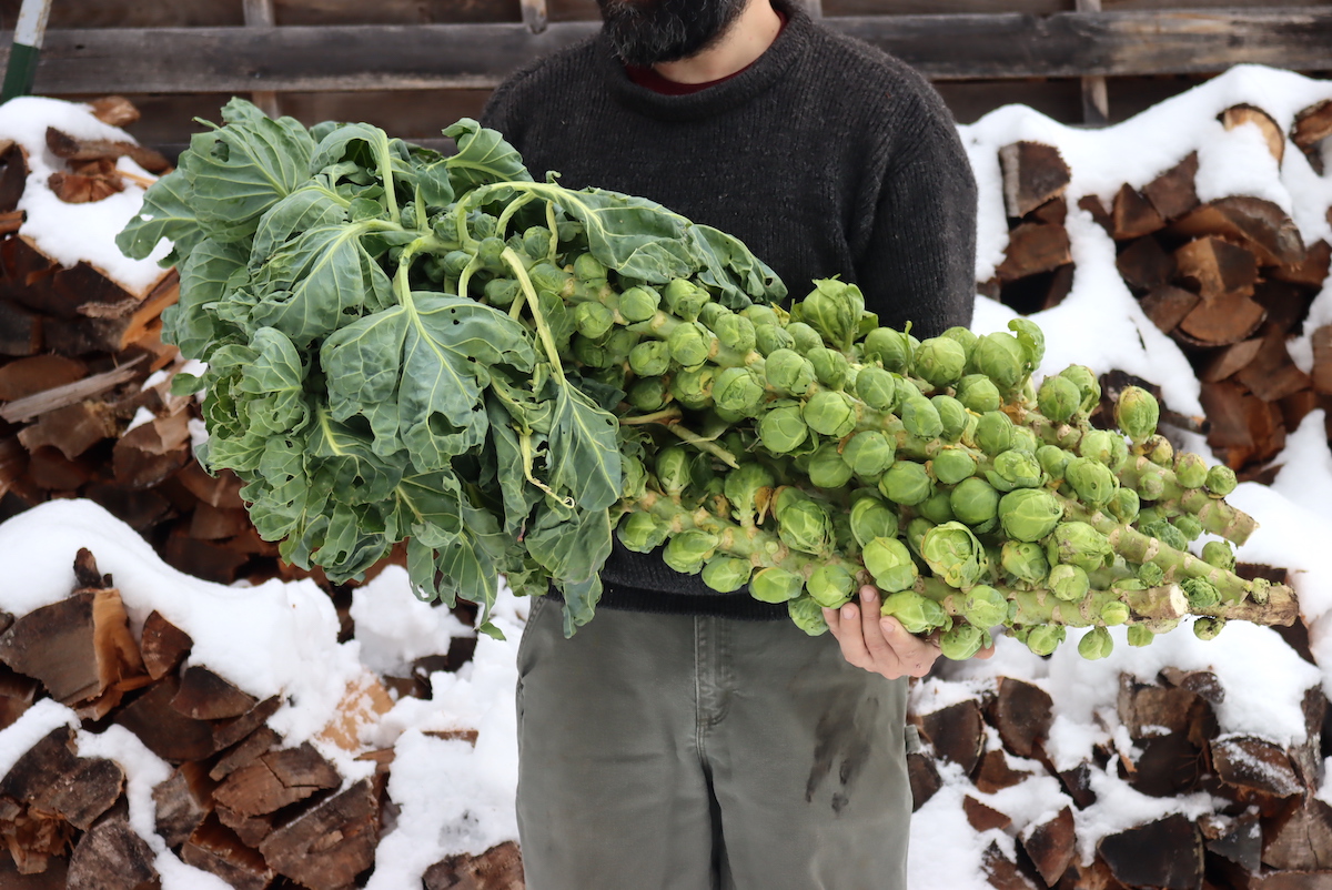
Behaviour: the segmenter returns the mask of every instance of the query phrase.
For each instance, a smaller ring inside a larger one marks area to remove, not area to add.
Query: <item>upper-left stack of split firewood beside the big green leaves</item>
[[[95,109],[115,125],[137,116],[124,100]],[[67,203],[151,181],[117,171],[120,156],[169,169],[133,143],[51,128],[47,145],[69,167],[48,184]],[[49,498],[87,497],[189,574],[224,584],[300,574],[256,534],[234,476],[210,477],[192,456],[197,409],[170,396],[159,373],[178,365],[174,346],[161,342],[160,317],[178,296],[176,272],[136,293],[88,262],[63,268],[43,254],[19,232],[24,151],[0,149],[0,520]]]

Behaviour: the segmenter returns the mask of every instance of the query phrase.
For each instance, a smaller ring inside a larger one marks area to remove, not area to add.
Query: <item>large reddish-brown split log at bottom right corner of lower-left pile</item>
[[[350,886],[374,863],[380,834],[378,782],[361,779],[268,835],[264,859],[312,890]]]

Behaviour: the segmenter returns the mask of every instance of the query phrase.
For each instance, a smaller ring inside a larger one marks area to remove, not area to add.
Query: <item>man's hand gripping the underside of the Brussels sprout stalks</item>
[[[840,609],[825,609],[823,620],[842,646],[842,657],[856,668],[898,677],[924,677],[939,657],[939,642],[934,638],[914,637],[892,616],[879,616],[879,590],[874,585],[860,588],[860,602],[848,602]],[[994,646],[987,646],[972,658],[988,658]]]

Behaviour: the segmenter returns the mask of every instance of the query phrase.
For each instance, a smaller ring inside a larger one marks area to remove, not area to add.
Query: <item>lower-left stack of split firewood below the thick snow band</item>
[[[374,865],[393,818],[385,791],[393,750],[361,753],[373,775],[346,779],[316,745],[288,746],[268,726],[280,698],[260,701],[189,662],[193,641],[160,613],[132,633],[120,592],[88,550],[75,576],[68,598],[0,614],[0,730],[45,698],[72,709],[83,735],[120,726],[173,767],[152,791],[156,834],[185,863],[240,890],[352,887]],[[378,678],[353,686],[316,739],[325,750],[357,753],[358,726],[392,706]],[[0,778],[0,843],[9,853],[0,855],[0,886],[156,886],[156,853],[131,815],[125,767],[80,757],[76,730],[57,726]],[[425,887],[521,890],[517,849],[445,859]]]

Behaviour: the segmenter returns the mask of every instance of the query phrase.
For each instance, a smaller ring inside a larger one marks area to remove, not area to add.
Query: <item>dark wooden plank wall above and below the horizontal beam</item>
[[[13,27],[21,0],[0,0],[0,29]],[[1030,17],[1059,16],[1079,8],[1086,0],[823,0],[823,15],[830,19],[847,16],[958,16],[963,23],[972,16],[1022,13]],[[1225,3],[1225,0],[1100,0],[1106,12],[1199,11],[1220,8],[1255,12],[1308,11],[1327,16],[1332,0],[1269,0],[1260,3]],[[521,21],[519,0],[272,0],[273,17],[281,27],[309,25],[446,25]],[[594,21],[594,0],[549,0],[551,23]],[[1083,7],[1086,8],[1086,7]],[[139,0],[55,0],[49,28],[59,31],[143,29],[143,28],[238,28],[245,24],[242,0],[172,0],[141,3]],[[161,51],[169,37],[148,33],[143,52]],[[959,40],[959,53],[984,32]],[[996,37],[1002,40],[1002,37]],[[49,43],[49,41],[48,41]],[[156,44],[156,47],[155,47]],[[500,51],[497,51],[500,52]],[[1329,51],[1332,52],[1332,51]],[[1332,56],[1329,56],[1332,57]],[[53,64],[53,63],[52,63]],[[1305,69],[1312,76],[1332,73],[1327,68]],[[1197,83],[1209,73],[1168,73],[1152,76],[1118,76],[1108,79],[1108,113],[1111,121],[1123,120],[1139,111]],[[41,75],[37,89],[41,92]],[[978,77],[955,76],[935,80],[944,100],[962,123],[970,123],[1004,104],[1031,105],[1066,123],[1083,120],[1083,85],[1079,77]],[[87,97],[89,93],[60,93]],[[461,116],[476,116],[489,87],[450,89],[340,89],[280,93],[282,113],[306,124],[318,120],[364,120],[405,139],[429,140],[440,128]],[[165,147],[182,145],[197,129],[194,117],[216,119],[217,109],[230,96],[218,92],[139,92],[129,97],[143,111],[143,120],[129,129],[141,141]]]

